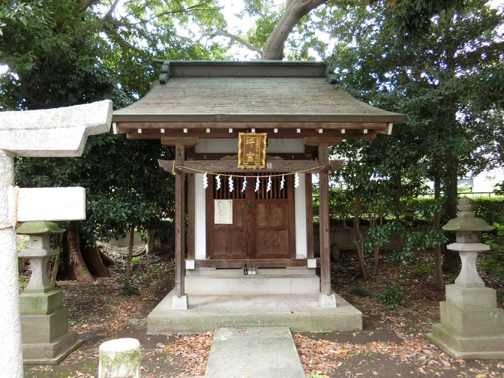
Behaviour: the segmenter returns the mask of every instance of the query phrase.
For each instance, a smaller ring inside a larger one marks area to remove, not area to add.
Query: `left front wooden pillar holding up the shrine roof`
[[[175,294],[184,295],[185,193],[184,173],[177,169],[184,162],[184,145],[175,145]]]

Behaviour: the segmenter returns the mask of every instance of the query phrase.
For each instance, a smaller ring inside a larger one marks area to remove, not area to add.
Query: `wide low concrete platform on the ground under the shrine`
[[[337,307],[319,307],[319,294],[187,295],[188,310],[172,310],[172,290],[149,314],[147,333],[199,333],[222,327],[289,327],[292,332],[361,331],[362,313],[335,294]]]

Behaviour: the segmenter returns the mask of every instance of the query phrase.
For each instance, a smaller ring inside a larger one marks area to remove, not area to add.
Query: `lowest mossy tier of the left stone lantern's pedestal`
[[[83,340],[77,340],[75,331],[72,331],[52,343],[23,344],[23,364],[57,365],[83,343]]]

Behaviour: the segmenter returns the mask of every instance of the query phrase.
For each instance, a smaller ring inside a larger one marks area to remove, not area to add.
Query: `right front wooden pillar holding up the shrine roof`
[[[329,160],[327,144],[319,146],[319,161],[322,168],[319,178],[319,222],[320,222],[320,291],[331,294],[331,256],[329,254]]]

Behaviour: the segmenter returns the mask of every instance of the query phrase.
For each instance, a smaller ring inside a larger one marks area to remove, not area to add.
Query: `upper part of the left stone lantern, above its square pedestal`
[[[18,252],[19,257],[30,259],[32,266],[30,282],[24,293],[46,293],[54,290],[47,277],[46,267],[49,259],[58,255],[59,251],[50,247],[50,236],[62,234],[65,231],[54,222],[25,222],[18,227],[18,234],[30,236],[28,248]]]

